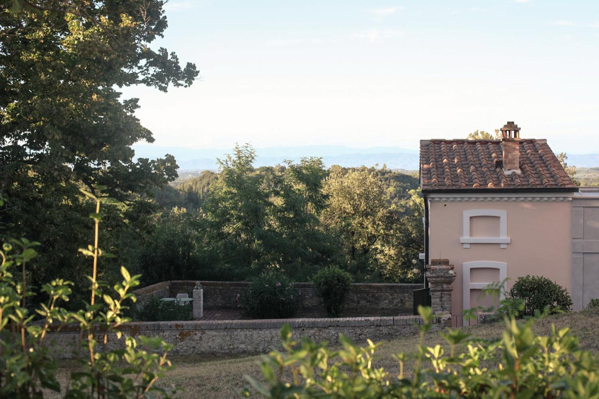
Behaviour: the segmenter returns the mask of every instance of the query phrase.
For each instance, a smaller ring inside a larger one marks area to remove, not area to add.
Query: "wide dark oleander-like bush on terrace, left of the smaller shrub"
[[[238,298],[239,306],[255,319],[285,319],[295,315],[299,292],[280,271],[264,271]]]

